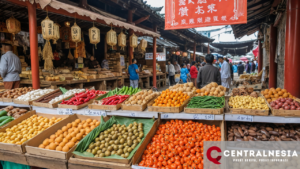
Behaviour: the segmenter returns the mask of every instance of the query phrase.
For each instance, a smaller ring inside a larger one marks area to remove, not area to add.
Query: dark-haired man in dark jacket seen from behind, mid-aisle
[[[211,82],[216,82],[221,85],[221,75],[218,68],[213,66],[214,55],[207,54],[205,56],[206,64],[203,66],[197,76],[197,87],[200,89]]]

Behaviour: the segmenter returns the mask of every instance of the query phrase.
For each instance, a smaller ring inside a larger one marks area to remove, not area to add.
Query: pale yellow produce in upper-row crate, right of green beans
[[[234,96],[229,98],[228,105],[230,108],[269,110],[267,103],[262,97]]]

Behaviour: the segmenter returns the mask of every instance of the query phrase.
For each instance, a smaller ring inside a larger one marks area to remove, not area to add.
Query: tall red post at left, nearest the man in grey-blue
[[[30,40],[30,60],[32,73],[32,87],[40,88],[39,76],[39,57],[38,57],[38,41],[37,41],[37,19],[36,19],[36,4],[27,2],[28,20],[29,20],[29,40]]]

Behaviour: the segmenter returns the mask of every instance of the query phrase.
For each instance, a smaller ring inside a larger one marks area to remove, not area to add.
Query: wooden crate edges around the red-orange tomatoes
[[[150,137],[150,139],[147,139],[147,140],[145,139],[144,140],[144,142],[143,142],[144,146],[143,147],[141,146],[140,149],[139,149],[140,156],[138,156],[137,158],[132,160],[132,165],[133,166],[138,166],[138,164],[142,161],[142,155],[143,155],[144,151],[146,150],[147,145],[151,142],[152,137],[155,135],[159,125],[165,124],[167,121],[169,121],[169,120],[159,120],[159,122],[157,123],[157,126],[150,130],[148,135],[150,134],[151,137]],[[182,120],[182,121],[188,121],[188,120]],[[203,124],[207,124],[207,125],[216,125],[216,127],[220,127],[220,129],[221,129],[221,141],[225,141],[226,131],[225,131],[225,127],[224,127],[224,121],[196,120],[195,122],[203,123]],[[133,168],[133,166],[132,166],[132,168]],[[146,168],[146,167],[141,167],[141,168]]]

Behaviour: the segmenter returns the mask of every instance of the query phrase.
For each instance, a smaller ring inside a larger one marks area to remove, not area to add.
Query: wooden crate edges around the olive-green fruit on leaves
[[[114,168],[114,169],[131,169],[131,164],[137,162],[138,158],[143,155],[144,149],[151,141],[158,127],[159,120],[156,120],[148,134],[145,136],[144,141],[141,143],[135,154],[130,160],[128,159],[115,159],[115,158],[93,158],[93,157],[82,157],[75,155],[69,160],[69,168],[78,168],[77,165],[82,168]]]

